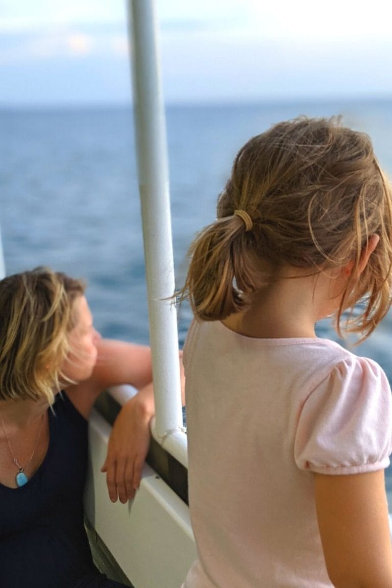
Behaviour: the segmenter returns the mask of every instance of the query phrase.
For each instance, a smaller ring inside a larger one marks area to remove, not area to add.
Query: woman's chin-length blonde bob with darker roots
[[[81,280],[36,268],[0,281],[0,399],[53,403]]]

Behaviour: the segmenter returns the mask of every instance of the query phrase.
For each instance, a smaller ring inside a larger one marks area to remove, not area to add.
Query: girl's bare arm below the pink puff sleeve
[[[392,588],[384,470],[314,477],[321,542],[333,585]]]

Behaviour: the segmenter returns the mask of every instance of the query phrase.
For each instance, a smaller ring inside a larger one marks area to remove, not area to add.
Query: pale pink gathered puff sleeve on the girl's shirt
[[[303,470],[354,474],[386,468],[392,452],[392,397],[370,359],[337,364],[300,410],[294,459]]]

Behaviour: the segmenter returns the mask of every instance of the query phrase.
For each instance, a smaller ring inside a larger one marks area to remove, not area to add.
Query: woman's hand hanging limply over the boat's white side
[[[108,455],[101,472],[106,472],[109,497],[126,503],[133,499],[142,477],[150,443],[150,420],[154,415],[152,383],[139,390],[120,410],[113,424]]]

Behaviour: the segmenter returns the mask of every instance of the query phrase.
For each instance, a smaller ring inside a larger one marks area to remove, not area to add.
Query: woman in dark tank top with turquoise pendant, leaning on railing
[[[135,496],[153,415],[150,349],[100,338],[80,280],[37,268],[0,281],[2,586],[120,586],[92,562],[83,527],[87,418],[102,390],[139,392],[113,425],[110,499]]]

